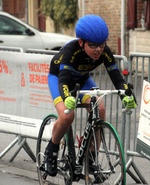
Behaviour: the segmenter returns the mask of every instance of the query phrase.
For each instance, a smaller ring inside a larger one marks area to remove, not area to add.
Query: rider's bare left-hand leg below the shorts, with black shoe
[[[51,176],[55,176],[57,174],[57,156],[60,140],[71,126],[74,119],[74,111],[66,115],[64,114],[65,109],[64,102],[59,102],[56,105],[58,119],[53,127],[52,139],[50,140],[45,151],[45,170]]]

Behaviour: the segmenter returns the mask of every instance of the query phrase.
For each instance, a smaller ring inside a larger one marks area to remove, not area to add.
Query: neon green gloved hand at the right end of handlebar
[[[134,97],[128,97],[125,96],[122,100],[123,105],[129,110],[129,109],[135,109],[136,108],[136,102],[134,100]]]

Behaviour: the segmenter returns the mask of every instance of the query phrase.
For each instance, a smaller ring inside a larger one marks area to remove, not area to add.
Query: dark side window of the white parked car
[[[0,16],[0,34],[27,35],[25,26],[5,16]]]

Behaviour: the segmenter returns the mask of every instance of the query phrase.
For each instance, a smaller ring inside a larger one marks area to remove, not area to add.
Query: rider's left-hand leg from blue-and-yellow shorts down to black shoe
[[[49,74],[48,85],[54,100],[56,110],[58,112],[58,119],[56,120],[53,127],[52,138],[45,150],[45,170],[49,175],[55,176],[57,174],[57,156],[59,151],[59,142],[73,122],[74,111],[72,111],[68,115],[64,114],[64,110],[66,108],[59,93],[58,77]]]

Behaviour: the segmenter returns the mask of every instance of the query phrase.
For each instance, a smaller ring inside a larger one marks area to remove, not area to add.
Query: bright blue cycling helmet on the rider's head
[[[76,37],[93,43],[104,43],[108,38],[108,27],[105,21],[97,15],[81,17],[75,28]]]

